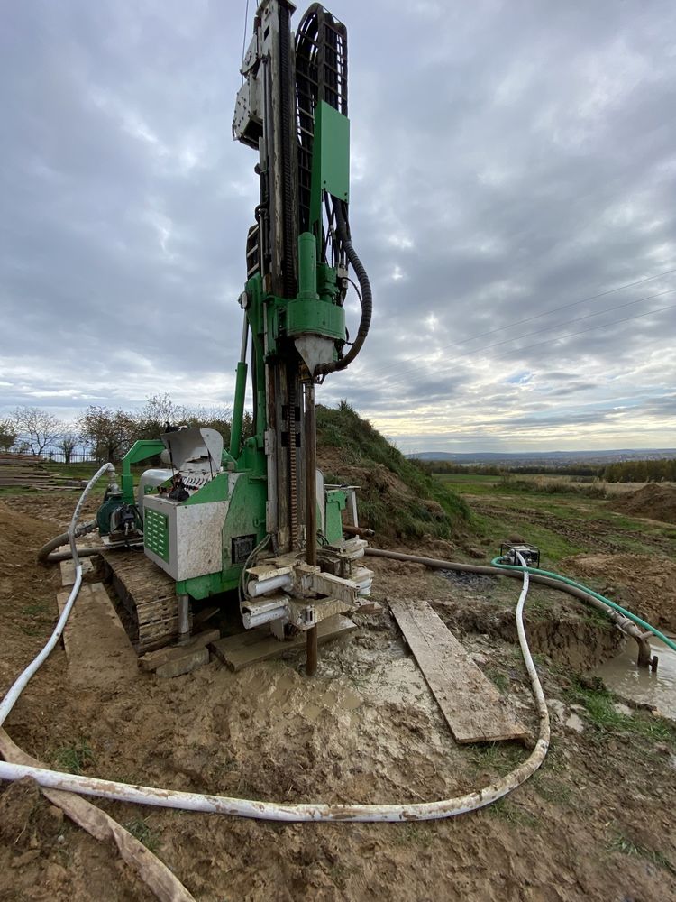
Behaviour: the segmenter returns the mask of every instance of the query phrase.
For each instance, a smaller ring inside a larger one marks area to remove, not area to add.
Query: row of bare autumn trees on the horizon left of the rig
[[[214,428],[230,441],[232,412],[227,407],[191,408],[168,394],[149,396],[141,410],[91,404],[72,422],[48,410],[17,407],[0,418],[0,451],[47,456],[58,451],[69,464],[78,448],[96,461],[119,463],[135,441],[159,438],[171,426]],[[251,414],[244,414],[244,436],[251,434]]]

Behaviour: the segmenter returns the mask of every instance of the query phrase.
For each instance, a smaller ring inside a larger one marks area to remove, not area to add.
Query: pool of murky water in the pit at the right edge
[[[634,642],[627,643],[625,651],[598,667],[596,673],[617,695],[653,704],[665,717],[676,720],[676,651],[665,648],[662,642],[651,644],[652,655],[660,659],[653,674],[636,667],[635,648]]]

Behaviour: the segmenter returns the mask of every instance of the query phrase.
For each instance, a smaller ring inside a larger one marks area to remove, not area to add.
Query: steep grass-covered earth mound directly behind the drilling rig
[[[384,538],[452,538],[470,509],[342,401],[317,406],[317,458],[327,483],[358,485],[362,526]]]

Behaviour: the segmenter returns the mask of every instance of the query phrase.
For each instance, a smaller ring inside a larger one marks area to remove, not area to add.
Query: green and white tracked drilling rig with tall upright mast
[[[259,5],[235,103],[233,137],[258,154],[260,201],[246,240],[230,446],[206,428],[137,442],[98,520],[140,651],[186,640],[196,602],[236,591],[247,629],[267,623],[280,641],[306,633],[312,674],[317,623],[370,593],[356,487],[326,485],[316,467],[315,385],[359,354],[371,290],[350,230],[347,32],[315,4],[294,37],[294,11],[288,0]],[[353,341],[343,306],[351,282],[361,302]],[[253,434],[243,437],[250,380]],[[160,451],[165,465],[135,489],[132,464]],[[163,571],[160,589],[146,574],[134,591],[138,560],[116,555],[141,535]]]

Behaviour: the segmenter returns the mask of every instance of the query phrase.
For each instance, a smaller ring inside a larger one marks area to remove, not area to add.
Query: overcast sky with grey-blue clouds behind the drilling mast
[[[5,3],[0,413],[230,402],[244,7]],[[319,400],[404,451],[676,446],[676,4],[330,8],[375,314]]]

